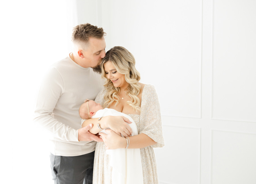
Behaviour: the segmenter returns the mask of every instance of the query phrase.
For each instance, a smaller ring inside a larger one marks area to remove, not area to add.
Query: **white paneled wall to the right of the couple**
[[[97,2],[107,50],[156,87],[160,183],[256,183],[256,1]]]

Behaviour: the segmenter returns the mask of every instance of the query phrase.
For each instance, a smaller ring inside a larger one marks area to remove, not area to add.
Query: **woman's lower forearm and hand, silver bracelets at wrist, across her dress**
[[[127,142],[125,137],[117,135],[111,129],[106,129],[105,131],[108,133],[108,135],[105,133],[99,133],[99,135],[104,141],[106,149],[126,148]],[[144,133],[135,136],[129,136],[129,140],[130,143],[128,149],[144,148],[156,144],[153,139],[151,139]]]

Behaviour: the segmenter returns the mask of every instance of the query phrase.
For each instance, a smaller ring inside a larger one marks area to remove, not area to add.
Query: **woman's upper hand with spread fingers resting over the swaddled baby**
[[[115,133],[124,137],[128,137],[132,133],[131,127],[127,123],[131,123],[128,118],[124,116],[108,116],[108,127],[112,129]]]

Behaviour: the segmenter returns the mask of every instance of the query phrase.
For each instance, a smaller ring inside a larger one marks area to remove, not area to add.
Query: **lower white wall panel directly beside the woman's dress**
[[[188,182],[187,178],[189,178],[191,183],[199,184],[201,178],[201,128],[164,126],[163,133],[165,146],[154,149],[156,160],[160,165],[168,164],[172,176],[167,177],[166,168],[158,166],[161,182],[184,183],[185,181]],[[190,138],[187,139],[186,136]],[[168,159],[166,160],[166,158]],[[187,178],[182,177],[182,173],[187,175]],[[191,175],[191,173],[193,174]],[[177,177],[178,175],[180,177]]]

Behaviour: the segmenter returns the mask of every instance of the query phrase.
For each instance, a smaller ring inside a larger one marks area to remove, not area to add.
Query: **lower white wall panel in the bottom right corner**
[[[215,135],[214,134],[219,134]],[[215,142],[216,141],[216,142]],[[214,143],[215,142],[215,143]],[[249,144],[248,144],[249,142]],[[252,144],[252,143],[255,144]],[[214,148],[214,144],[215,147]],[[252,145],[251,145],[252,144]],[[246,154],[246,155],[245,155]],[[213,158],[215,155],[215,159]],[[238,131],[226,131],[226,130],[211,130],[211,162],[210,162],[210,181],[211,184],[225,181],[226,183],[234,183],[232,177],[237,179],[249,178],[250,182],[253,180],[253,174],[250,176],[250,172],[255,173],[256,164],[256,133],[251,132],[238,132]],[[234,158],[234,159],[233,159]],[[214,163],[215,160],[215,163]],[[215,171],[214,171],[215,164]],[[239,166],[239,167],[238,167]],[[224,167],[226,173],[222,173],[221,170]],[[253,170],[254,168],[254,170]],[[215,177],[213,176],[215,172]],[[235,173],[240,173],[241,176],[237,176]],[[226,176],[230,175],[230,176]],[[215,179],[216,182],[213,180]],[[256,177],[254,177],[256,181]],[[229,180],[229,181],[227,181]],[[235,181],[236,183],[236,181]],[[241,183],[241,181],[237,182]],[[244,183],[247,183],[244,180]]]

